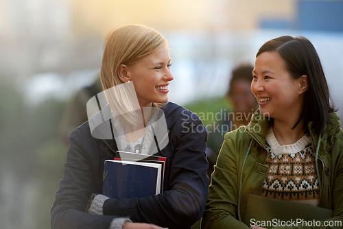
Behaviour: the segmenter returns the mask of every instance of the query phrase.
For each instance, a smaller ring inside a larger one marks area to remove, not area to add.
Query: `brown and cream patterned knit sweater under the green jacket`
[[[292,145],[280,145],[272,128],[265,138],[265,165],[269,171],[261,195],[318,206],[318,176],[311,138],[304,135]]]

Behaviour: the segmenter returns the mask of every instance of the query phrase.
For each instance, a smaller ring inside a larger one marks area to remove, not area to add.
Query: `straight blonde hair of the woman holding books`
[[[100,78],[104,91],[113,86],[123,84],[117,71],[121,64],[134,64],[145,58],[156,49],[167,45],[167,40],[151,27],[144,25],[125,25],[115,29],[106,41],[106,47],[102,58]],[[108,90],[107,90],[108,91]],[[132,90],[126,90],[125,86],[116,87],[112,95],[106,94],[113,112],[130,123],[136,123],[139,119],[135,112],[137,109],[132,101]],[[153,103],[154,107],[163,107],[163,104]]]

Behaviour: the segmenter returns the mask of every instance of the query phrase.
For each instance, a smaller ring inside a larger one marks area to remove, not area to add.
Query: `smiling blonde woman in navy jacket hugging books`
[[[174,79],[170,62],[167,41],[150,27],[126,25],[109,36],[100,75],[114,113],[112,138],[101,138],[101,132],[94,137],[91,120],[71,133],[52,228],[190,228],[200,219],[209,184],[207,133],[199,117],[167,101]],[[116,92],[108,93],[111,88]],[[163,110],[168,140],[163,147],[149,128],[156,119],[149,108]],[[118,149],[165,156],[163,193],[119,200],[102,195],[104,160]]]

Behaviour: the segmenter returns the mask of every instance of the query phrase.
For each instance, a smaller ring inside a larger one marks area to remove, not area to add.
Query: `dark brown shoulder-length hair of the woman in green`
[[[293,128],[303,120],[303,128],[309,133],[307,126],[313,121],[314,132],[320,134],[327,123],[329,112],[335,109],[330,103],[327,80],[314,45],[303,36],[281,36],[266,42],[256,57],[265,51],[278,52],[292,77],[307,75],[308,89],[304,96],[303,110]]]

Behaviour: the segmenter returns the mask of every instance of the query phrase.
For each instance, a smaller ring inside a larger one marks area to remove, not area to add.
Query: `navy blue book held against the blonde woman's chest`
[[[157,195],[162,172],[158,163],[105,160],[103,195],[116,199]]]

